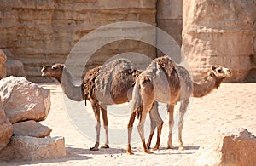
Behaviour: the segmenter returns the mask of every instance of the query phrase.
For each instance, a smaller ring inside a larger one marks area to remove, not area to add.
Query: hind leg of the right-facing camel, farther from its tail
[[[137,125],[137,130],[138,130],[138,133],[139,133],[139,135],[141,137],[141,140],[142,140],[142,143],[143,143],[144,152],[152,153],[148,150],[148,147],[146,146],[146,143],[145,143],[145,137],[144,137],[144,124],[145,124],[145,121],[146,121],[148,110],[150,109],[150,107],[152,105],[144,105],[143,104],[143,106],[144,106],[144,108],[143,108],[143,112],[142,112],[141,117],[140,117],[140,122]]]

